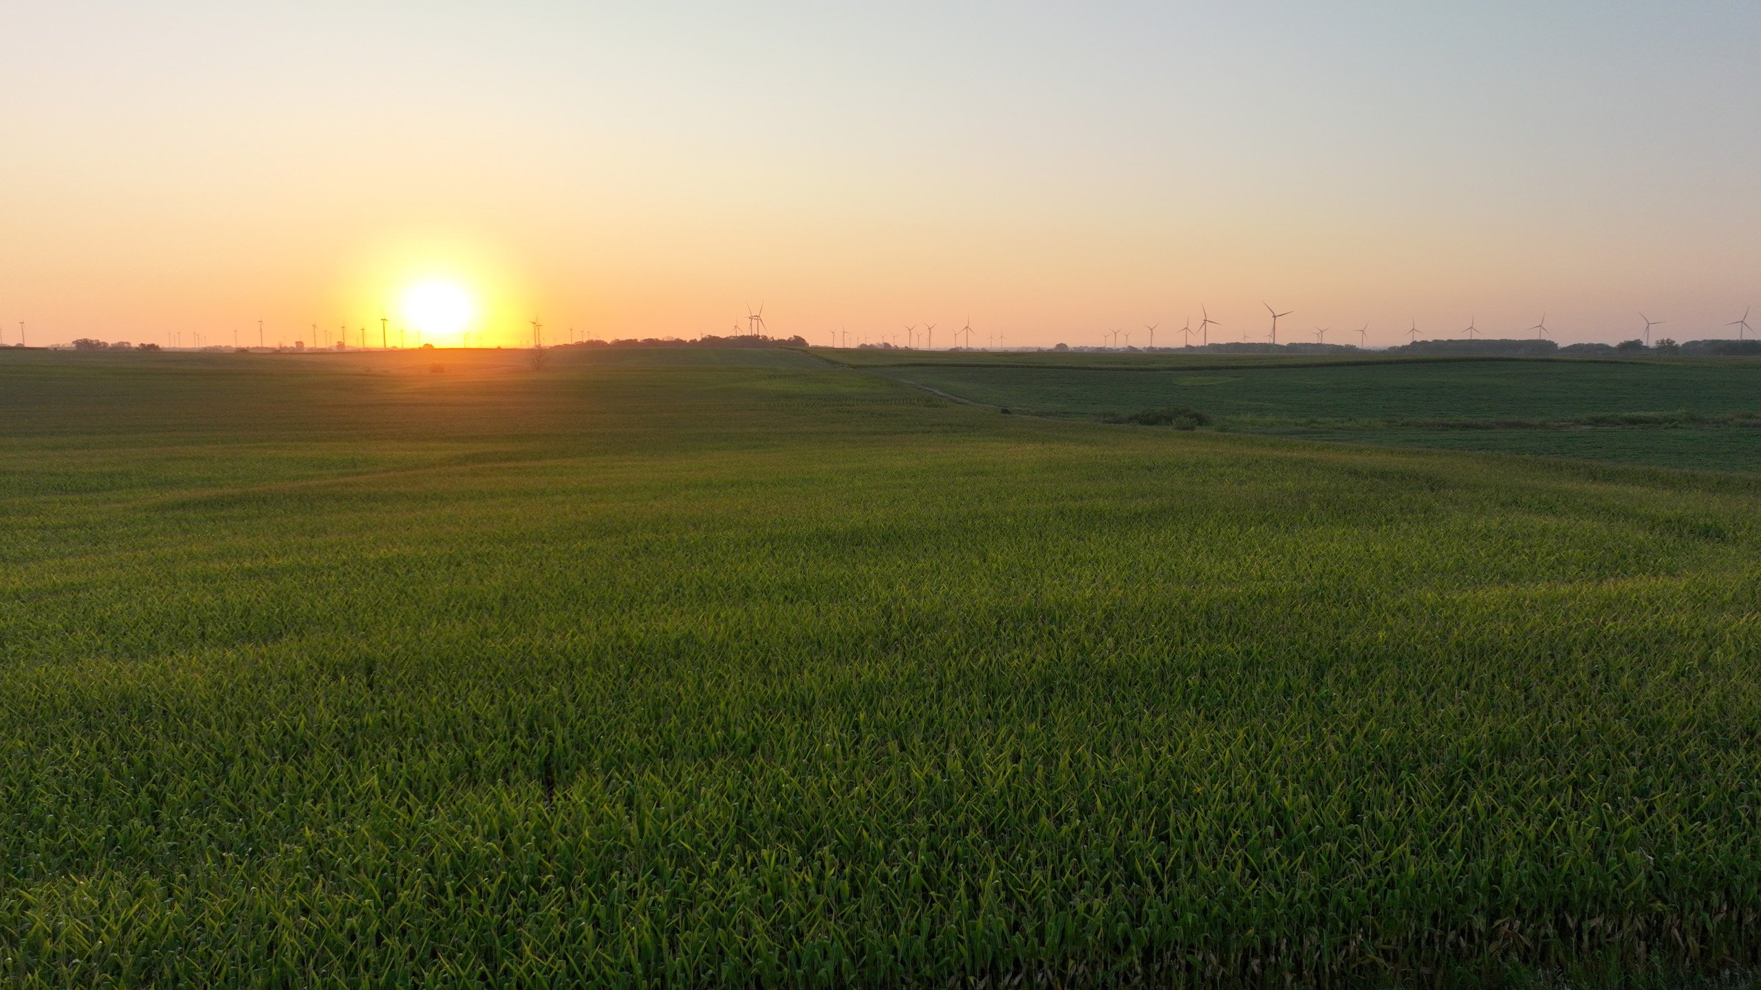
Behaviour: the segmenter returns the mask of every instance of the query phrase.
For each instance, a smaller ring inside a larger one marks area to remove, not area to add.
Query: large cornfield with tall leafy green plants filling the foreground
[[[0,351],[4,978],[1761,962],[1761,479],[1000,416],[882,372]],[[1120,375],[1032,395],[1333,409]],[[1377,388],[1323,414],[1389,416]]]

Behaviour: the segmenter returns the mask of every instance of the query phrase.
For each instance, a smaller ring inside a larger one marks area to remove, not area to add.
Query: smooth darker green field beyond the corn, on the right
[[[873,370],[1043,416],[1104,417],[1175,405],[1197,409],[1219,428],[1236,432],[1761,470],[1761,365],[1743,359],[1278,358],[1275,366],[1217,359],[1171,366],[1162,356],[1136,361]]]

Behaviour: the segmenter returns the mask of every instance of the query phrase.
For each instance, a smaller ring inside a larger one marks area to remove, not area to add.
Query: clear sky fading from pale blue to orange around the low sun
[[[0,0],[0,344],[414,344],[430,282],[484,345],[1761,305],[1752,0]]]

